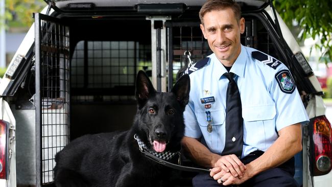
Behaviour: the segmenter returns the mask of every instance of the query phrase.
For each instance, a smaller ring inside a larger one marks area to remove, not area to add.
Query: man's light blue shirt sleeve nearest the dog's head
[[[202,132],[197,122],[194,110],[195,109],[193,101],[189,100],[189,103],[187,104],[183,112],[185,125],[184,135],[193,138],[200,138],[202,136]]]

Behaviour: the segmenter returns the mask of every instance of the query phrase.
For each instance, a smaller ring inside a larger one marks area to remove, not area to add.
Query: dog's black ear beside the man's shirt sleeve
[[[190,92],[190,78],[188,74],[184,74],[175,83],[172,92],[175,94],[178,102],[182,107],[185,107],[189,102],[189,92]]]

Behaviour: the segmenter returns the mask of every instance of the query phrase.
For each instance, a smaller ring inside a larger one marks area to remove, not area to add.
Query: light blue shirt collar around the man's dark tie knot
[[[208,57],[211,58],[210,62],[212,63],[212,66],[211,66],[212,76],[215,77],[216,79],[220,79],[220,77],[222,75],[224,75],[224,73],[227,73],[226,68],[218,60],[218,58],[216,57],[215,54],[211,54]],[[238,56],[238,58],[236,58],[234,64],[232,65],[232,68],[230,69],[230,72],[234,73],[235,75],[237,75],[239,77],[244,77],[246,60],[247,60],[246,49],[244,48],[243,45],[241,45],[240,55]]]

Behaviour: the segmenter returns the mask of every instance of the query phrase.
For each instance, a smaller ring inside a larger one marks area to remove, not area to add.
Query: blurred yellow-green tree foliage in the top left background
[[[8,27],[30,27],[32,13],[46,6],[43,0],[6,0],[5,18]]]

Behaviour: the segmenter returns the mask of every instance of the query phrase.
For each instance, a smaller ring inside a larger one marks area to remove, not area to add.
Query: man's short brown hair
[[[224,10],[226,8],[233,10],[236,20],[239,23],[241,19],[241,6],[233,0],[207,0],[199,11],[201,23],[204,24],[203,17],[207,12],[212,10]]]

